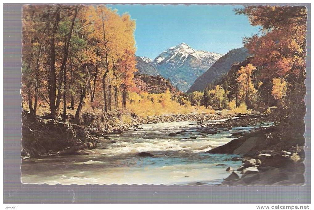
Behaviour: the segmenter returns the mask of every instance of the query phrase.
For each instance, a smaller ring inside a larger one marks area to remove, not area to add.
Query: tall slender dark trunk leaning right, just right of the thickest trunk
[[[73,16],[73,19],[72,19],[70,32],[68,33],[68,37],[66,39],[66,42],[65,42],[65,45],[64,45],[64,48],[63,48],[64,57],[63,57],[63,61],[62,61],[62,65],[61,65],[60,71],[59,71],[59,87],[58,87],[57,102],[56,102],[57,109],[59,109],[59,106],[60,106],[61,92],[62,92],[62,80],[63,80],[62,75],[63,75],[63,71],[64,71],[65,65],[66,65],[66,63],[68,61],[68,57],[69,57],[70,41],[71,41],[71,38],[72,38],[72,32],[73,32],[74,22],[75,22],[77,13],[78,13],[78,7],[75,8],[75,13],[74,13],[74,16]]]

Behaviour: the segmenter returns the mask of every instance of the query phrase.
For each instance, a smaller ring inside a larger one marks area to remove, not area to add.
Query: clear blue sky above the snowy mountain
[[[242,37],[258,32],[230,5],[107,5],[136,20],[138,56],[154,60],[164,50],[186,43],[198,50],[226,54],[243,47]]]

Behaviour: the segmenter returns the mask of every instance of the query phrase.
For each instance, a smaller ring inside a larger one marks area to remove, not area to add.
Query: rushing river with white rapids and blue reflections
[[[193,124],[193,125],[191,125]],[[163,122],[143,125],[141,130],[111,135],[89,155],[54,156],[23,160],[24,184],[219,184],[230,175],[225,169],[241,166],[231,161],[236,155],[205,151],[231,141],[235,132],[256,127],[218,129],[200,134],[196,122]],[[175,137],[169,133],[182,132]],[[191,139],[196,136],[196,139]],[[110,143],[111,141],[114,143]],[[152,157],[138,156],[149,152]],[[225,165],[218,165],[225,164]],[[217,166],[218,165],[218,166]]]

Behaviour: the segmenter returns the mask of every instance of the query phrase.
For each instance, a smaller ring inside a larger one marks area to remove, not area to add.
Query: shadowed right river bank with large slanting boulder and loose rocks
[[[227,167],[230,176],[222,185],[302,185],[305,182],[303,145],[283,138],[281,126],[259,129],[208,150],[210,154],[234,154],[241,167]]]

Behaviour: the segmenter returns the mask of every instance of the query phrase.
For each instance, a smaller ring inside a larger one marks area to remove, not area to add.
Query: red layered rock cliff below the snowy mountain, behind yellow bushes
[[[165,93],[169,88],[171,93],[177,93],[176,88],[173,87],[169,80],[160,76],[148,76],[137,74],[134,75],[135,87],[140,91],[149,93]]]

